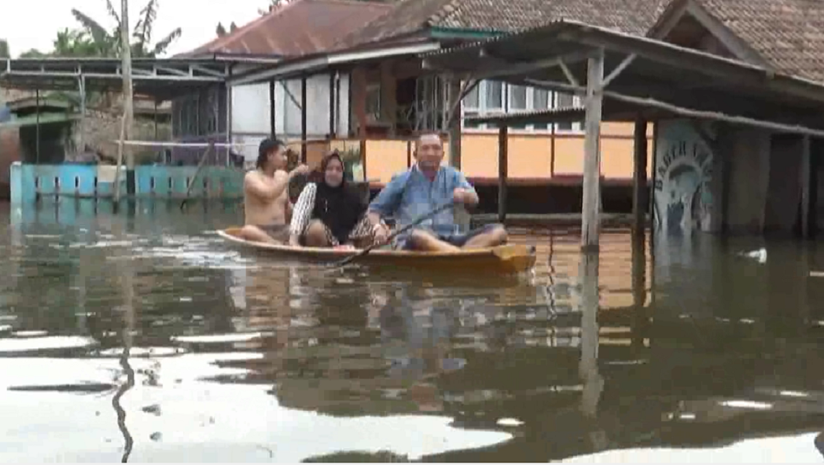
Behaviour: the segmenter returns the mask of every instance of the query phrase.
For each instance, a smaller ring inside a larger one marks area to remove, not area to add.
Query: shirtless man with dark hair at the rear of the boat
[[[286,146],[277,139],[264,139],[258,148],[257,169],[243,179],[243,206],[246,221],[241,238],[286,244],[289,240],[289,181],[309,173],[307,165],[286,172]]]

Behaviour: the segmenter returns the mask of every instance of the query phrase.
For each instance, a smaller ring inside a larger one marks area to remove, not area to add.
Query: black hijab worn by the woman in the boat
[[[341,166],[344,165],[338,151],[333,151],[321,161],[320,179],[315,182],[315,208],[311,212],[311,217],[323,221],[332,231],[332,235],[338,239],[339,244],[345,244],[349,240],[349,233],[366,212],[367,206],[361,196],[349,188],[345,177],[336,188],[326,184],[326,168],[332,159],[337,159]]]

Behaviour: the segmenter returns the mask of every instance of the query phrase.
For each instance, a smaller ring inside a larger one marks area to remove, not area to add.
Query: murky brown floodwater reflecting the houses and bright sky
[[[513,228],[524,276],[330,273],[240,220],[0,203],[0,461],[822,460],[815,243]]]

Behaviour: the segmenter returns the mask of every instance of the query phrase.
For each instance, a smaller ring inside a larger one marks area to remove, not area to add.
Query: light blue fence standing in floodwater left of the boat
[[[115,166],[110,165],[24,165],[12,164],[12,202],[30,202],[40,197],[112,198],[115,193]],[[134,170],[135,195],[139,198],[240,198],[244,171],[204,166],[142,165]],[[126,194],[125,169],[119,173],[120,193]]]

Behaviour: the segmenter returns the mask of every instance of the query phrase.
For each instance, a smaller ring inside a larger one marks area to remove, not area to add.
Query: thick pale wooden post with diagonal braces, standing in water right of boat
[[[583,139],[583,202],[581,212],[581,247],[598,249],[599,202],[601,171],[601,108],[603,100],[604,51],[588,59],[586,132]]]

